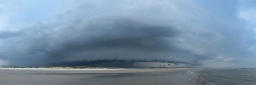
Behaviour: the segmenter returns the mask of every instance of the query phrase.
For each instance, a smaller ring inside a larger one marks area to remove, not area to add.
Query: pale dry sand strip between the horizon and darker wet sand
[[[49,68],[0,68],[0,74],[34,73],[34,74],[115,74],[143,72],[184,72],[191,68],[175,69],[49,69]]]

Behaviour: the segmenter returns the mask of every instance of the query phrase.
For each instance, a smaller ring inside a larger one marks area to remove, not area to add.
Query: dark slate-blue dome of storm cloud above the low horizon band
[[[174,27],[152,25],[132,20],[103,20],[111,23],[88,25],[77,39],[62,44],[61,49],[49,51],[52,61],[95,60],[153,60],[172,56],[180,58],[198,57],[172,44],[179,35]],[[92,34],[86,34],[88,32]],[[74,34],[76,35],[76,34]],[[90,37],[88,37],[90,36]],[[191,53],[191,52],[190,52]],[[172,54],[172,55],[170,55]],[[188,61],[188,60],[186,60]],[[191,61],[189,61],[191,62]]]

